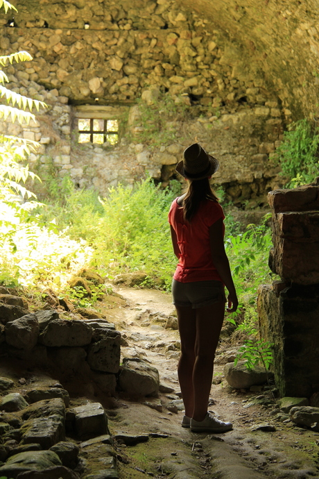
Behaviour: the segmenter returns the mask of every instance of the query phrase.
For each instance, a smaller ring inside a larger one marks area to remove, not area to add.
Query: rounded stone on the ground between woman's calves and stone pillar
[[[227,383],[236,389],[245,389],[252,385],[264,384],[267,375],[264,367],[255,366],[254,369],[248,369],[244,361],[228,362],[224,366],[224,374]],[[269,373],[272,376],[271,373]]]

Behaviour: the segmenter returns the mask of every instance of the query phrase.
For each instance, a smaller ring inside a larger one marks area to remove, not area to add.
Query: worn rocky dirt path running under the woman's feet
[[[236,344],[230,339],[229,331],[227,333],[227,323],[216,357],[216,384],[212,386],[210,410],[214,410],[221,419],[232,421],[234,429],[223,435],[207,435],[181,428],[183,412],[176,372],[178,331],[164,327],[174,312],[171,296],[155,290],[128,287],[119,287],[117,292],[123,300],[112,308],[105,307],[103,312],[121,331],[124,339],[121,359],[140,358],[156,367],[160,373],[160,394],[141,398],[117,392],[116,397],[110,398],[96,395],[93,389],[87,387],[81,389],[80,383],[70,388],[63,384],[70,395],[67,400],[67,403],[70,401],[67,404],[69,410],[97,401],[103,405],[113,439],[111,441],[110,436],[105,435],[97,447],[94,439],[89,443],[71,437],[69,440],[74,447],[80,448],[82,465],[72,467],[78,476],[71,476],[71,473],[63,476],[61,473],[60,477],[83,477],[83,473],[89,470],[85,469],[85,461],[103,463],[106,460],[104,456],[111,457],[113,454],[117,462],[113,473],[112,469],[107,469],[109,475],[101,475],[100,478],[95,474],[94,479],[114,478],[117,474],[120,479],[147,476],[158,479],[319,478],[319,433],[291,422],[288,414],[279,409],[267,387],[239,390],[227,385],[223,367],[236,352]],[[36,369],[24,371],[21,362],[19,365],[8,364],[2,360],[0,376],[15,381],[12,391],[22,395],[25,395],[28,383],[38,388],[44,385],[52,387],[55,383],[55,378]],[[60,399],[60,402],[63,401]],[[23,414],[32,417],[35,414],[32,405]],[[70,421],[70,413],[67,419]],[[107,444],[112,444],[112,454]],[[59,455],[59,448],[53,448]],[[107,460],[112,462],[110,457]],[[107,467],[110,468],[111,464]],[[34,474],[21,478],[34,479]],[[42,477],[51,478],[39,476]]]

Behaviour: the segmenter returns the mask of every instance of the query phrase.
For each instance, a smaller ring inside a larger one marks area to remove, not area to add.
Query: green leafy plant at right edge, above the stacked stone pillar
[[[282,144],[275,151],[288,177],[286,187],[296,187],[311,183],[319,175],[319,128],[307,119],[295,121],[284,133]]]

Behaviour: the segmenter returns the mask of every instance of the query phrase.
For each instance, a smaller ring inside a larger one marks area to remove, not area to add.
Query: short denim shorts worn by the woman
[[[172,294],[175,306],[196,309],[218,301],[226,303],[225,287],[216,280],[180,283],[173,279]]]

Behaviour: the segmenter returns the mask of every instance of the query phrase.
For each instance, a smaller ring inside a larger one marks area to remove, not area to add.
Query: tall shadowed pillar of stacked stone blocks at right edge
[[[274,344],[281,396],[319,391],[319,178],[268,194],[273,209],[270,269],[281,277],[259,287],[261,335]]]

